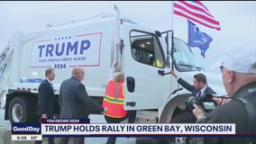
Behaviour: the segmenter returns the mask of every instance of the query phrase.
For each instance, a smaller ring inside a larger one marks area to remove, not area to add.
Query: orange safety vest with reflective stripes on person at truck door
[[[103,107],[108,109],[106,116],[123,118],[127,111],[123,109],[123,83],[109,81],[105,89]]]

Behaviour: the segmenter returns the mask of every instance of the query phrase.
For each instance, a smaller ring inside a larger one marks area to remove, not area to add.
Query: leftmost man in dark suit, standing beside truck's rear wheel
[[[47,68],[45,70],[45,79],[41,82],[38,88],[38,114],[41,119],[52,119],[56,107],[56,99],[54,95],[53,85],[51,83],[55,78],[55,72],[53,68]],[[49,144],[54,144],[53,137],[48,138]],[[41,140],[36,140],[35,144],[41,144]]]

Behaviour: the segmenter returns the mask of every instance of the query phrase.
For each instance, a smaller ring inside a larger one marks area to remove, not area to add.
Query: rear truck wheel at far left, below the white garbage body
[[[30,106],[23,97],[14,97],[8,107],[8,116],[11,123],[28,122]]]

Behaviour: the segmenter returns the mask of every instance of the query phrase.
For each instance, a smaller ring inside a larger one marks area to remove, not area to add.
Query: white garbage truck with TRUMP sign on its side
[[[186,111],[190,92],[173,76],[193,82],[204,73],[217,94],[224,94],[221,76],[198,65],[184,40],[173,31],[157,31],[116,14],[86,22],[50,27],[41,31],[17,31],[1,54],[0,95],[5,120],[31,122],[36,115],[38,86],[48,67],[55,69],[54,91],[73,67],[83,67],[87,93],[102,103],[108,72],[114,61],[125,76],[124,109],[157,113],[156,122],[171,122]],[[154,118],[152,118],[154,119]]]

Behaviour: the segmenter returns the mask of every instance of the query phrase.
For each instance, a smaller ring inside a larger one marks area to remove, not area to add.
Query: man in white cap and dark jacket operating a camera
[[[243,51],[246,51],[243,49]],[[249,52],[250,51],[250,52]],[[235,133],[242,137],[193,138],[192,143],[255,144],[256,137],[256,50],[247,53],[235,51],[221,65],[224,88],[231,97],[229,103],[221,104],[207,116],[194,104],[193,113],[197,123],[235,123]],[[239,118],[238,118],[239,117]]]

